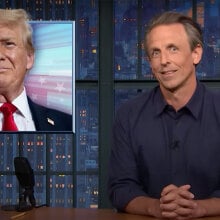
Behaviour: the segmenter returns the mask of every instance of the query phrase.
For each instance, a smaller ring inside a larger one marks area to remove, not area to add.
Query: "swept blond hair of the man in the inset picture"
[[[23,9],[0,9],[0,24],[19,26],[22,30],[22,40],[29,53],[34,53],[32,27],[29,24],[30,15]]]

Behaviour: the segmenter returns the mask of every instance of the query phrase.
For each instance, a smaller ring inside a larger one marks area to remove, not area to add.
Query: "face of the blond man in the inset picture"
[[[22,92],[26,71],[33,66],[33,61],[34,55],[23,45],[21,29],[0,24],[1,95],[13,92],[15,98]]]

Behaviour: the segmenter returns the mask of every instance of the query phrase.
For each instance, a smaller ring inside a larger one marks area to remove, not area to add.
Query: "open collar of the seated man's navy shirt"
[[[200,82],[197,81],[196,90],[193,96],[191,97],[189,102],[184,106],[191,112],[191,114],[196,119],[199,116],[199,112],[200,112],[201,105],[203,102],[204,92],[205,92],[204,85],[202,85]],[[159,86],[157,86],[155,89],[154,104],[156,107],[156,111],[155,111],[156,115],[160,115],[167,106],[167,102],[164,100]]]

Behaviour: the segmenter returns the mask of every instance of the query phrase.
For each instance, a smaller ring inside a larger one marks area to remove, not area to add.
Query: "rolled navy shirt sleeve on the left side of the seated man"
[[[137,157],[132,148],[129,117],[131,113],[126,107],[116,115],[109,160],[108,193],[113,206],[119,211],[124,211],[135,197],[146,196],[138,175]]]

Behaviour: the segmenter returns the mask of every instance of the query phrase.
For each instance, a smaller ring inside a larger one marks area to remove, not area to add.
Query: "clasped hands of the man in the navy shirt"
[[[161,192],[160,209],[162,217],[170,219],[190,219],[202,217],[205,210],[198,206],[190,185],[166,186]]]

